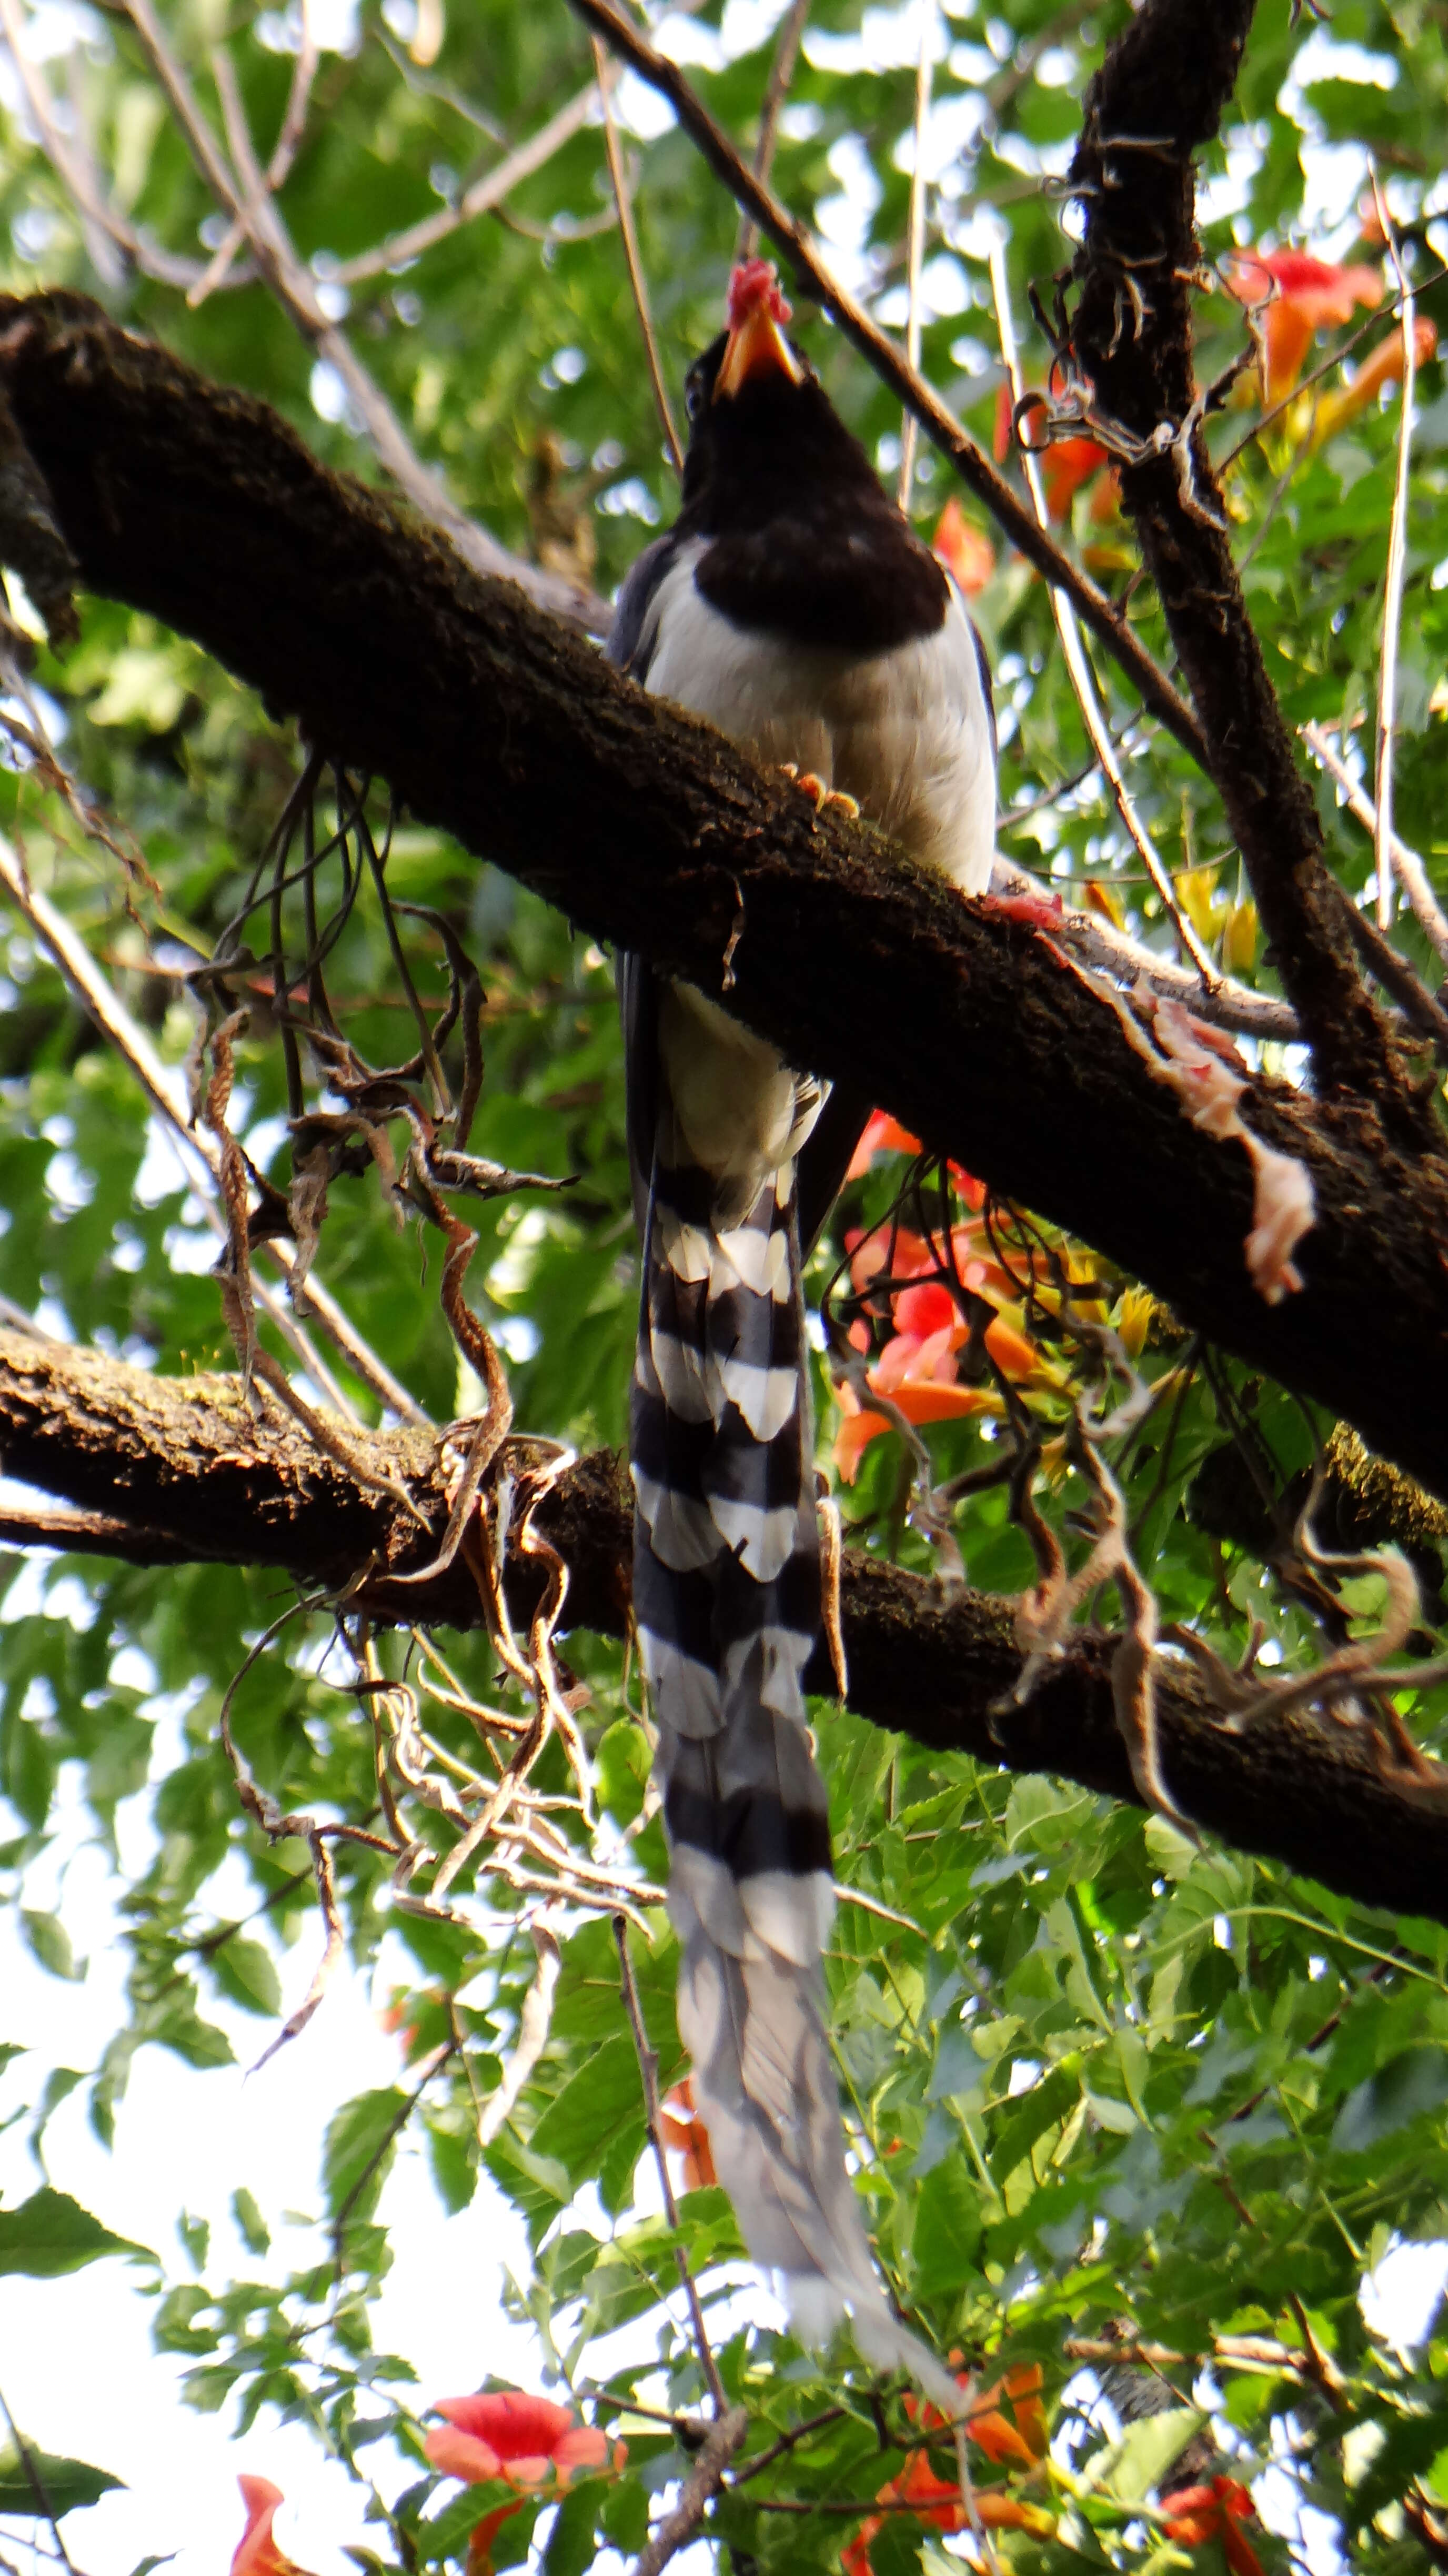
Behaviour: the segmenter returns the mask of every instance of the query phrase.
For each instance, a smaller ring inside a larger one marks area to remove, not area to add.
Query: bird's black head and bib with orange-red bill
[[[770,263],[734,268],[729,330],[688,371],[678,531],[711,538],[693,580],[737,626],[889,652],[940,626],[946,574],[786,322]]]

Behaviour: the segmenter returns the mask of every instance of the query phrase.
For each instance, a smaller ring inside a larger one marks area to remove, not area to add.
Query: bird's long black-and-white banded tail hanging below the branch
[[[724,1211],[729,1213],[729,1211]],[[745,2244],[804,2342],[958,2391],[899,2326],[845,2172],[824,2025],[835,1909],[804,1708],[819,1530],[794,1162],[739,1221],[660,1118],[634,1368],[634,1613],[660,1728],[678,2025]]]

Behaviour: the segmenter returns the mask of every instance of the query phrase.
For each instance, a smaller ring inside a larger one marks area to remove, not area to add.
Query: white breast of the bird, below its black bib
[[[995,757],[976,644],[951,585],[938,634],[884,654],[732,626],[696,590],[706,538],[680,549],[647,618],[647,685],[706,716],[763,768],[794,760],[964,894],[995,845]]]

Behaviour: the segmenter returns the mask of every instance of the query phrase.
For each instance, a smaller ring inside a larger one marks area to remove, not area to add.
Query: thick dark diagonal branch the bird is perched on
[[[0,379],[90,587],[196,636],[595,938],[716,992],[742,922],[727,1002],[796,1064],[868,1087],[1448,1492],[1445,1172],[1373,1100],[1324,1123],[1286,1084],[1252,1087],[1250,1121],[1306,1162],[1319,1211],[1306,1291],[1265,1306],[1242,1149],[1185,1123],[1028,922],[814,822],[515,587],[327,474],[265,404],[85,299],[0,299]]]

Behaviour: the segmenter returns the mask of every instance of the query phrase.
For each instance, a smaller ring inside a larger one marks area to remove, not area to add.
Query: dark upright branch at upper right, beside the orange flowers
[[[1193,152],[1232,98],[1252,5],[1147,0],[1090,82],[1069,175],[1085,211],[1072,355],[1098,412],[1149,446],[1123,466],[1123,502],[1319,1087],[1373,1090],[1404,1141],[1430,1144],[1433,1113],[1404,1082],[1350,956],[1345,902],[1247,616],[1201,433]]]

